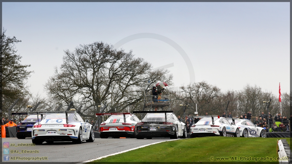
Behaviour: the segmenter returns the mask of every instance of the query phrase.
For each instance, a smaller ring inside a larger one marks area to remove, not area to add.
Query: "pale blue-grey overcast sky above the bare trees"
[[[22,41],[16,44],[21,62],[34,71],[30,91],[44,97],[64,50],[95,41],[114,45],[140,33],[167,37],[189,57],[194,78],[182,55],[161,40],[119,47],[153,68],[171,65],[172,87],[206,81],[224,92],[250,84],[279,95],[281,81],[281,93],[290,90],[289,2],[2,2],[2,23],[7,36]]]

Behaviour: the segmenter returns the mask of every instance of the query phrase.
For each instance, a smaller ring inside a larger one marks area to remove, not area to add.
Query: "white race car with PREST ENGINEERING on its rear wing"
[[[27,112],[28,115],[45,114],[42,120],[32,127],[32,143],[42,144],[44,141],[51,143],[56,141],[72,141],[81,144],[82,141],[93,142],[93,126],[83,121],[76,111],[37,111]]]

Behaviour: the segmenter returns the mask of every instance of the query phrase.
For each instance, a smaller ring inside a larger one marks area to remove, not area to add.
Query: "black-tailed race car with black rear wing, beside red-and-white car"
[[[137,139],[152,139],[152,137],[170,137],[171,139],[186,138],[185,123],[178,120],[173,111],[133,111],[133,113],[147,113],[137,123],[135,128]]]

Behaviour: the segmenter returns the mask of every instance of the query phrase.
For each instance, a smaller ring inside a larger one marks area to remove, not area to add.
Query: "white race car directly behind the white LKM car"
[[[229,123],[224,117],[219,116],[188,116],[201,118],[191,127],[191,138],[199,136],[234,136],[240,137],[239,128],[233,123]]]

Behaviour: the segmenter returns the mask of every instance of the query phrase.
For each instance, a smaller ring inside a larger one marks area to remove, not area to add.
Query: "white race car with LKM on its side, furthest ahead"
[[[228,119],[228,118],[227,118]],[[231,120],[228,120],[231,121]],[[262,127],[257,127],[249,120],[238,119],[235,120],[236,125],[240,130],[240,136],[242,137],[263,137],[266,138],[266,131]]]

